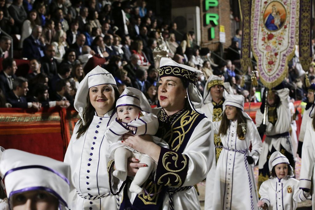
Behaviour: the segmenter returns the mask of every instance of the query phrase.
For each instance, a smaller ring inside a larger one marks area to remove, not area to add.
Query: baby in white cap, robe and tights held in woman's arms
[[[135,178],[130,184],[129,190],[142,194],[141,185],[148,179],[154,168],[154,161],[129,146],[123,145],[123,135],[132,132],[133,135],[150,134],[157,132],[158,120],[151,112],[151,107],[144,94],[135,88],[126,88],[116,102],[117,118],[107,128],[105,136],[112,144],[109,146],[110,159],[115,160],[113,175],[125,181],[127,178],[127,159],[135,157],[146,167],[140,167]],[[158,142],[160,143],[160,142]]]

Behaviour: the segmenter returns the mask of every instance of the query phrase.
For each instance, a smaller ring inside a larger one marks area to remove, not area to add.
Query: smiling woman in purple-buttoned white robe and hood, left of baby
[[[114,108],[118,97],[114,77],[100,66],[80,82],[74,107],[81,119],[73,130],[64,160],[71,166],[74,184],[70,209],[117,209],[117,198],[109,190],[106,156],[110,142],[104,133],[116,118]]]

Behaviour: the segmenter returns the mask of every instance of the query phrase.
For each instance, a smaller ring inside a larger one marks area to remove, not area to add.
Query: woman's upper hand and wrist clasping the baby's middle
[[[153,142],[151,135],[133,135],[131,132],[123,135],[124,145],[127,145],[138,152],[147,154],[153,161],[158,162],[161,147]]]

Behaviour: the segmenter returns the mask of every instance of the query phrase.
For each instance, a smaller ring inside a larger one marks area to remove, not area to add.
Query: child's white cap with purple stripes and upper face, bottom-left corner
[[[68,209],[70,166],[21,150],[3,152],[0,173],[10,209]]]

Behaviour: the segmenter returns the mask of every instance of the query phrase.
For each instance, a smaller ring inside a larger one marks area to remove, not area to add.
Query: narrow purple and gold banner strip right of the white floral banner
[[[300,63],[304,71],[309,71],[312,62],[312,1],[300,0]]]

